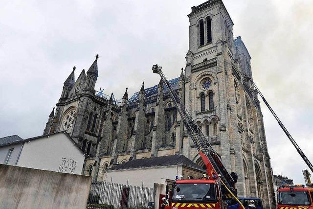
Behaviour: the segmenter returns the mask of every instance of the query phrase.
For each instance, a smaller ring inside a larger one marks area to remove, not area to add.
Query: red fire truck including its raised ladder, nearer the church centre
[[[188,113],[184,103],[172,88],[161,69],[162,67],[158,65],[154,65],[152,68],[154,73],[160,75],[163,85],[168,88],[168,92],[181,116],[183,124],[206,165],[208,175],[208,179],[175,181],[172,187],[173,195],[171,198],[168,196],[169,189],[167,187],[166,200],[169,201],[169,204],[165,208],[226,209],[227,206],[224,204],[224,201],[231,197],[241,204],[236,197],[235,184],[238,178],[237,174],[234,172],[228,173],[220,157]]]

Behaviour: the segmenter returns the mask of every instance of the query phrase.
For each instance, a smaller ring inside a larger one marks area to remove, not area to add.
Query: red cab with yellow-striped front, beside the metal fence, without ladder
[[[166,209],[224,209],[217,180],[177,180]],[[226,208],[226,207],[225,207]]]

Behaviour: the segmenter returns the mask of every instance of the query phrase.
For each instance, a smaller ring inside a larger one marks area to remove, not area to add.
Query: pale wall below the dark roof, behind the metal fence
[[[154,183],[164,184],[164,179],[175,180],[176,175],[181,175],[181,165],[150,167],[150,168],[132,168],[125,170],[112,170],[104,174],[103,181],[128,184],[133,186],[143,186],[153,188]]]

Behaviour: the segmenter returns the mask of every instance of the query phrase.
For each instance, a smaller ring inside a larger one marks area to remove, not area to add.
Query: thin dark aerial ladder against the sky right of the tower
[[[285,132],[285,134],[287,135],[287,137],[289,138],[289,140],[291,141],[291,143],[293,144],[293,146],[296,148],[297,152],[300,154],[300,156],[302,157],[302,159],[304,160],[305,163],[307,163],[307,165],[309,166],[309,168],[311,169],[311,171],[313,172],[313,165],[312,163],[309,161],[309,159],[307,158],[307,156],[305,156],[305,154],[303,153],[303,151],[300,149],[300,147],[298,146],[298,144],[295,142],[295,140],[291,137],[291,134],[288,132],[288,130],[286,129],[286,127],[284,126],[284,124],[280,121],[280,119],[278,118],[278,116],[275,114],[275,112],[273,111],[273,109],[269,106],[267,100],[264,98],[263,94],[260,92],[259,88],[255,85],[255,83],[253,82],[253,80],[249,77],[247,77],[245,75],[245,79],[249,80],[252,84],[252,86],[256,89],[256,91],[260,94],[261,98],[263,99],[264,103],[266,104],[266,106],[268,107],[269,111],[272,113],[272,115],[275,117],[275,119],[277,120],[278,124],[280,125],[280,127],[283,129],[283,131]]]

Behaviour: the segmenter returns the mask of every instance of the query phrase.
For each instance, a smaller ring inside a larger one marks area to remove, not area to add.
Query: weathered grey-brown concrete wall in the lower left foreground
[[[1,209],[86,209],[90,176],[0,164]]]

